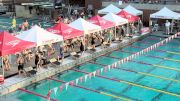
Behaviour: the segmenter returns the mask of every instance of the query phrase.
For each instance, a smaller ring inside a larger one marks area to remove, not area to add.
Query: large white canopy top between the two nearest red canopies
[[[33,26],[27,31],[22,32],[16,37],[26,41],[35,42],[36,46],[63,41],[62,36],[50,33],[37,25]]]

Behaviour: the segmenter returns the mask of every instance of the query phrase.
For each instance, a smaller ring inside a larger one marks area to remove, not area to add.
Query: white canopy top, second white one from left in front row
[[[69,26],[84,31],[84,34],[90,34],[101,30],[100,26],[92,24],[82,18],[73,21]]]

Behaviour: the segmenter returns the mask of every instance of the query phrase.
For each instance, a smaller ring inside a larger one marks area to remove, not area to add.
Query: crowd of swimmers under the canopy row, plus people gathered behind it
[[[91,15],[92,13],[90,13]],[[78,19],[79,17],[87,19],[91,17],[84,11],[76,11],[74,10],[70,16],[62,17],[59,16],[54,20],[54,24],[63,22],[65,24],[69,24],[72,21]],[[38,26],[41,27],[41,24],[38,23]],[[16,25],[16,17],[12,19],[12,29],[15,31],[14,33],[25,31],[34,26],[34,23],[29,24],[28,20],[25,19],[24,22],[20,25]],[[130,24],[130,33],[136,34],[137,24]],[[115,32],[116,31],[116,32]],[[46,46],[39,46],[38,48],[24,50],[16,54],[16,65],[18,68],[18,73],[24,74],[24,67],[32,66],[38,71],[41,68],[47,67],[50,59],[55,58],[58,62],[62,63],[65,56],[72,55],[71,53],[79,53],[80,57],[84,54],[85,50],[96,50],[96,46],[101,46],[101,48],[105,48],[109,46],[112,40],[121,40],[125,37],[127,33],[127,25],[118,26],[115,28],[107,29],[104,31],[91,33],[89,35],[83,37],[77,37],[73,39],[68,39],[61,43],[55,43]],[[5,71],[10,71],[11,63],[10,55],[6,55],[3,57],[3,66]]]

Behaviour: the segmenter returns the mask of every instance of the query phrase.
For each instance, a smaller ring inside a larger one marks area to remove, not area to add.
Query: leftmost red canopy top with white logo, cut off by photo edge
[[[0,56],[14,54],[34,46],[34,42],[21,40],[8,32],[0,33]]]

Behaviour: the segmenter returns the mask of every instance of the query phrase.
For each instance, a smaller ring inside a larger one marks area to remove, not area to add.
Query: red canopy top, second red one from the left
[[[61,35],[64,40],[83,36],[83,33],[84,33],[83,31],[72,28],[62,22],[60,22],[50,28],[47,28],[47,31],[54,33],[54,34]]]

